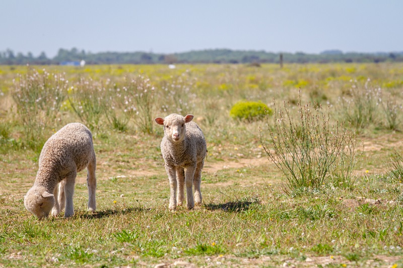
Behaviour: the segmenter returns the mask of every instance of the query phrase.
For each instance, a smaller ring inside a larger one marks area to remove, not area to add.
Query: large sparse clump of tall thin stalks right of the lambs
[[[290,114],[288,104],[284,103],[283,109],[277,109],[274,103],[274,109],[274,130],[266,116],[271,138],[268,143],[263,141],[260,131],[268,160],[283,171],[288,190],[322,187],[343,152],[348,131],[330,126],[329,113],[325,114],[321,106],[312,107],[310,103],[302,106],[301,97],[297,122]]]

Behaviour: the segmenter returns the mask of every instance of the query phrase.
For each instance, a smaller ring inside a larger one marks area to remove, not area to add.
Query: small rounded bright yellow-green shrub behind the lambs
[[[230,111],[232,118],[246,120],[247,122],[262,120],[265,114],[271,115],[272,109],[262,102],[241,101],[236,103]]]

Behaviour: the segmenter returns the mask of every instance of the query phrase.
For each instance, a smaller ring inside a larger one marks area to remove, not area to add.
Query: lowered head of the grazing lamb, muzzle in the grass
[[[39,219],[49,216],[54,203],[54,196],[41,186],[34,185],[24,197],[25,208]]]

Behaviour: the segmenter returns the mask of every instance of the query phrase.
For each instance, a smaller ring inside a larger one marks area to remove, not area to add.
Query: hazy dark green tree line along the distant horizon
[[[327,62],[402,62],[403,51],[379,53],[343,53],[327,50],[319,54],[281,53],[284,63]],[[57,55],[48,58],[44,52],[34,57],[32,53],[15,54],[7,49],[0,51],[0,64],[60,64],[85,60],[87,64],[172,64],[172,63],[279,63],[280,53],[253,50],[207,49],[183,53],[157,54],[147,52],[99,52],[91,53],[72,48],[60,48]]]

